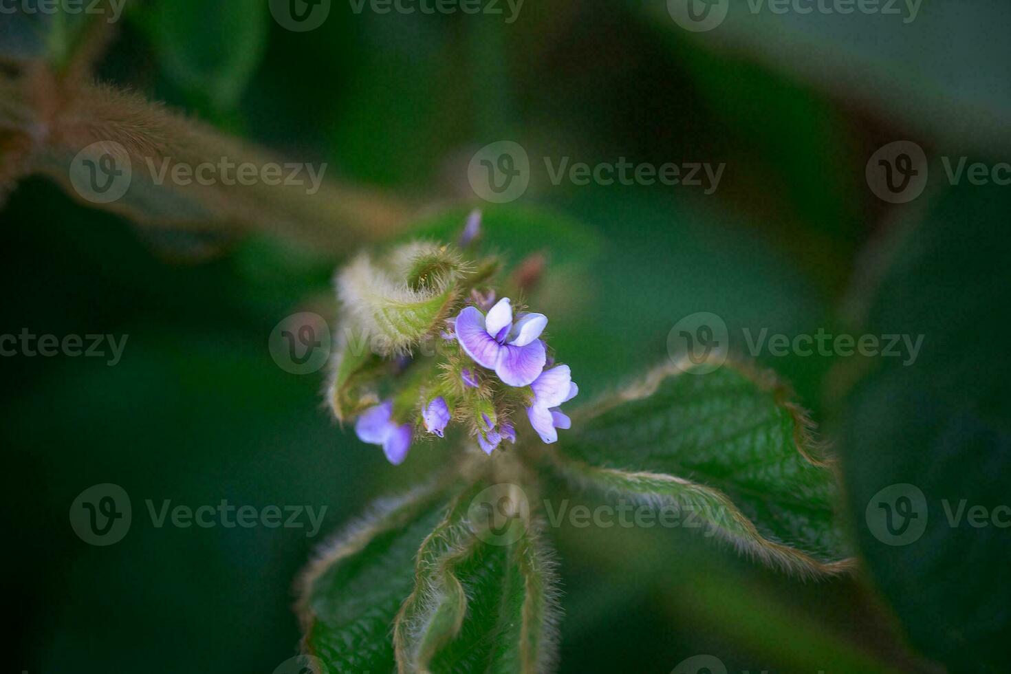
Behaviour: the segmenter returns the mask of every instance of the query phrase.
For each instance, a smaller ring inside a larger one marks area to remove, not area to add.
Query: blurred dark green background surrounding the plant
[[[696,311],[737,335],[925,334],[908,368],[759,357],[843,459],[866,573],[802,583],[680,531],[563,528],[560,671],[669,672],[701,653],[732,672],[999,671],[1011,535],[947,526],[933,508],[1011,500],[1011,187],[952,187],[938,162],[1011,160],[1011,6],[927,0],[907,22],[744,5],[697,33],[660,0],[531,1],[512,23],[334,2],[319,28],[292,32],[266,0],[128,3],[97,75],[327,162],[328,178],[382,188],[422,220],[449,207],[443,221],[462,226],[484,207],[511,261],[547,256],[542,306],[584,401],[664,359],[668,331]],[[470,191],[467,162],[501,139],[522,143],[534,172],[520,200],[491,206]],[[901,139],[924,149],[931,179],[894,205],[864,165]],[[545,156],[727,168],[712,195],[555,186]],[[291,584],[312,549],[438,463],[389,466],[332,421],[325,373],[270,357],[285,316],[335,318],[342,256],[270,232],[139,227],[39,177],[0,218],[0,334],[128,335],[112,367],[0,360],[4,591],[20,631],[8,669],[272,672],[297,649]],[[921,541],[890,548],[863,508],[903,482],[928,494],[932,518]],[[104,548],[68,520],[97,483],[133,505],[128,535]],[[316,538],[156,528],[145,499],[327,511]]]

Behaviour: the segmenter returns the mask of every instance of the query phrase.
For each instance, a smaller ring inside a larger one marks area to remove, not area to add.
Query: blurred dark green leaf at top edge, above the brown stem
[[[141,15],[162,68],[216,110],[238,103],[267,45],[267,3],[158,0]]]

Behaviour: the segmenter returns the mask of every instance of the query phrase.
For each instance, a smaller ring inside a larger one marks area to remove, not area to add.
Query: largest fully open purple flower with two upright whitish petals
[[[547,362],[544,343],[537,338],[548,319],[543,313],[526,313],[513,322],[509,297],[502,297],[482,314],[464,307],[456,317],[456,336],[475,363],[494,370],[509,386],[527,386],[541,374]]]

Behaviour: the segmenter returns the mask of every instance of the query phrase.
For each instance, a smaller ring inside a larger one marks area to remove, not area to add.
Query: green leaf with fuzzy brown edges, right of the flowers
[[[672,507],[683,525],[764,563],[801,575],[847,570],[832,465],[786,387],[730,364],[680,367],[577,415],[555,466],[575,484]]]

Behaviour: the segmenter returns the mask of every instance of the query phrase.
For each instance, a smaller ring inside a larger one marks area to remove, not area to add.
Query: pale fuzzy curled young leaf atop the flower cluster
[[[419,283],[419,261],[429,262],[437,247],[410,244],[395,250],[387,264],[360,255],[338,277],[338,292],[356,332],[383,355],[400,354],[435,334],[456,301],[459,263]],[[448,263],[447,263],[448,264]]]

